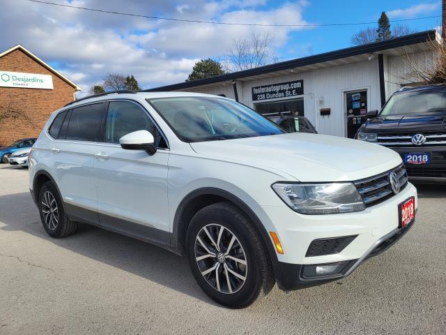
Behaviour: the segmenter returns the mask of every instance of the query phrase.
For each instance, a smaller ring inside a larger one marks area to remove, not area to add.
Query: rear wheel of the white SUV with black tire
[[[57,207],[54,207],[54,199]],[[52,207],[48,207],[46,204],[52,204]],[[52,209],[55,209],[52,211]],[[40,188],[38,195],[38,209],[40,213],[40,220],[42,221],[43,228],[49,234],[49,236],[60,238],[73,234],[77,230],[77,222],[71,221],[65,214],[63,204],[59,192],[52,181],[47,181]],[[48,214],[48,210],[50,213]],[[54,213],[54,214],[53,214]],[[57,219],[54,217],[57,216]]]

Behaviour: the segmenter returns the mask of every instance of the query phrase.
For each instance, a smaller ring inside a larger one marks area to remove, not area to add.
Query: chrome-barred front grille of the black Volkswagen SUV
[[[422,145],[414,145],[412,136],[415,134],[423,134],[426,142]],[[406,146],[406,147],[435,147],[446,144],[446,131],[431,131],[421,133],[380,133],[378,134],[378,144],[385,146]]]

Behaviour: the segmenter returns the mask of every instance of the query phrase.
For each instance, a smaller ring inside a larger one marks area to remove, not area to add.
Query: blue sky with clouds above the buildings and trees
[[[377,22],[439,16],[438,0],[48,0],[183,20],[261,24]],[[0,0],[0,52],[21,44],[82,88],[107,73],[134,75],[142,89],[183,82],[200,59],[225,62],[234,40],[270,34],[277,61],[351,47],[351,36],[376,24],[342,27],[247,27],[153,20],[64,8],[29,0]],[[440,17],[406,22],[435,29]],[[0,69],[1,70],[1,69]]]

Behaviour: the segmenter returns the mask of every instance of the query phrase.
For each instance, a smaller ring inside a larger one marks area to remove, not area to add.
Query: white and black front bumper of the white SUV
[[[367,207],[364,211],[353,213],[303,215],[286,206],[262,206],[273,225],[268,229],[276,232],[284,251],[283,254],[276,253],[277,260],[273,264],[279,288],[294,290],[351,274],[369,255],[377,254],[378,250],[385,250],[383,241],[390,245],[390,238],[394,237],[394,234],[407,231],[406,228],[398,228],[399,204],[410,197],[415,197],[416,210],[417,190],[410,183],[397,195]],[[343,238],[346,237],[354,238],[344,243]],[[329,241],[323,248],[313,247],[314,241],[321,240]],[[336,252],[331,252],[333,249],[336,249]],[[323,277],[320,275],[321,271],[317,278],[309,278],[308,273],[303,276],[305,267],[313,266],[317,271],[316,265],[337,263],[346,265],[342,271],[336,272],[337,276]]]

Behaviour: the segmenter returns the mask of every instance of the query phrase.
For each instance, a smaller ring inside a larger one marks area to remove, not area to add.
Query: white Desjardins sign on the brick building
[[[53,77],[51,75],[39,75],[37,73],[9,72],[0,70],[0,87],[53,89]]]

